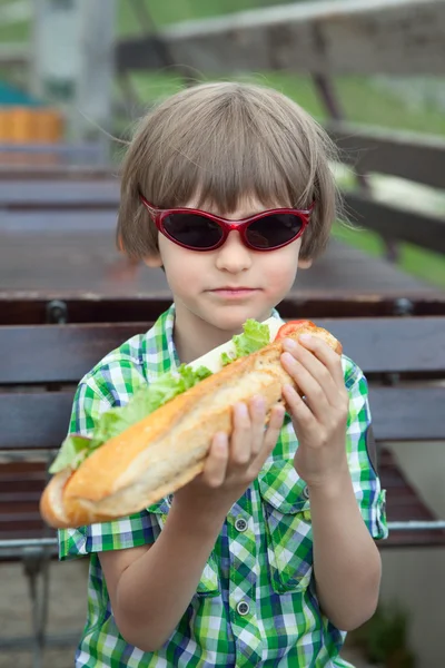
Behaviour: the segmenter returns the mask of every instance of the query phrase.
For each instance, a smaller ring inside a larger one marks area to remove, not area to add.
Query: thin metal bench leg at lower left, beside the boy
[[[50,556],[44,548],[26,548],[23,568],[32,606],[32,668],[42,668],[48,620]],[[40,576],[40,577],[39,577]]]

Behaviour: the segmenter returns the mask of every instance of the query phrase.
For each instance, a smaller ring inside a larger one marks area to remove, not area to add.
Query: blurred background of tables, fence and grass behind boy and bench
[[[444,316],[444,45],[442,0],[0,0],[0,330],[146,321],[147,302],[168,299],[164,276],[115,248],[119,165],[152,105],[215,79],[281,90],[340,148],[350,222],[295,287],[303,315]],[[445,518],[444,443],[427,448],[390,453],[434,520]],[[11,527],[1,503],[0,489]],[[378,613],[345,651],[357,668],[443,665],[444,544],[436,531],[383,548]],[[37,665],[32,642],[12,647],[31,625],[21,558],[0,551],[4,668]],[[68,639],[44,666],[72,665],[86,568],[51,561],[48,628]]]

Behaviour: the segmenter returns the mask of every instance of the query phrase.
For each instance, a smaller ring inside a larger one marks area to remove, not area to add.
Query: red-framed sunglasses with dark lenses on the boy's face
[[[239,232],[243,243],[254,250],[276,250],[291,244],[305,232],[315,203],[308,209],[277,208],[241,220],[228,220],[192,208],[159,209],[144,195],[140,200],[156,227],[168,239],[189,250],[215,250],[229,232]]]

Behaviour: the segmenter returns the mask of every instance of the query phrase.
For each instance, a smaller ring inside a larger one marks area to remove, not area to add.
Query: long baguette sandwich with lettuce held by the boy
[[[280,363],[283,340],[304,333],[342,354],[342,344],[309,321],[248,320],[231,341],[102,413],[91,438],[70,434],[40,499],[43,520],[53,528],[110,521],[187,484],[202,471],[214,435],[231,433],[235,403],[263,395],[267,424],[284,385],[295,386]]]

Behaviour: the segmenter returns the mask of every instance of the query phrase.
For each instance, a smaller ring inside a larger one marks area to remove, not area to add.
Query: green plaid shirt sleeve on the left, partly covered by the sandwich
[[[76,392],[68,433],[90,436],[101,413],[116,404],[111,395],[99,390],[93,379],[81,381]],[[63,561],[91,552],[150,544],[159,532],[156,517],[147,511],[111,522],[60,529],[59,559]]]

